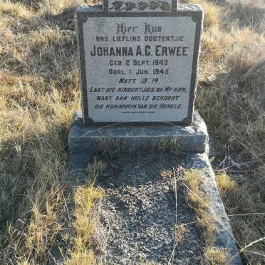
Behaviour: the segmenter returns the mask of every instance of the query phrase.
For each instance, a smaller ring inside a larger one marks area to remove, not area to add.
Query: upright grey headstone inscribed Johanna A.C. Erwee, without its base
[[[202,9],[105,0],[76,11],[85,125],[191,125]]]

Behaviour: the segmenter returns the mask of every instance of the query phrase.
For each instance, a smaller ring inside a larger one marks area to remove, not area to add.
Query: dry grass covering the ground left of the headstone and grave
[[[65,225],[76,37],[71,14],[47,9],[0,1],[1,264],[46,264]]]

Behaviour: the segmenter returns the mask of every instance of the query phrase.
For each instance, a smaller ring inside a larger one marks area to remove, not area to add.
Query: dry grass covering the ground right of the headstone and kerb
[[[219,20],[204,28],[202,37],[196,105],[217,139],[215,160],[228,155],[246,163],[241,175],[228,176],[225,169],[217,174],[234,235],[244,247],[265,235],[265,3],[216,2]],[[241,257],[246,264],[262,264],[264,249],[259,241],[243,249]]]

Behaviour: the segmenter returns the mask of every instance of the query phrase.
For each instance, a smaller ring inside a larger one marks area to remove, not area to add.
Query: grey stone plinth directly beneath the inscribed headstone
[[[81,113],[76,113],[68,144],[72,153],[95,154],[100,149],[100,137],[111,136],[120,140],[126,150],[141,149],[150,143],[176,139],[182,152],[204,152],[208,142],[207,128],[197,111],[190,126],[177,125],[108,125],[83,126]]]

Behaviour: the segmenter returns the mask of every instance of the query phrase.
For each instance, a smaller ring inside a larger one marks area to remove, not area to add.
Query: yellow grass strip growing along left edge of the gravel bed
[[[80,185],[73,190],[73,228],[71,248],[67,249],[65,263],[73,264],[97,264],[94,249],[100,249],[100,242],[96,240],[98,232],[98,209],[100,201],[105,196],[103,189],[94,187],[97,177],[106,169],[105,163],[94,160],[87,167],[87,180],[85,185]]]

